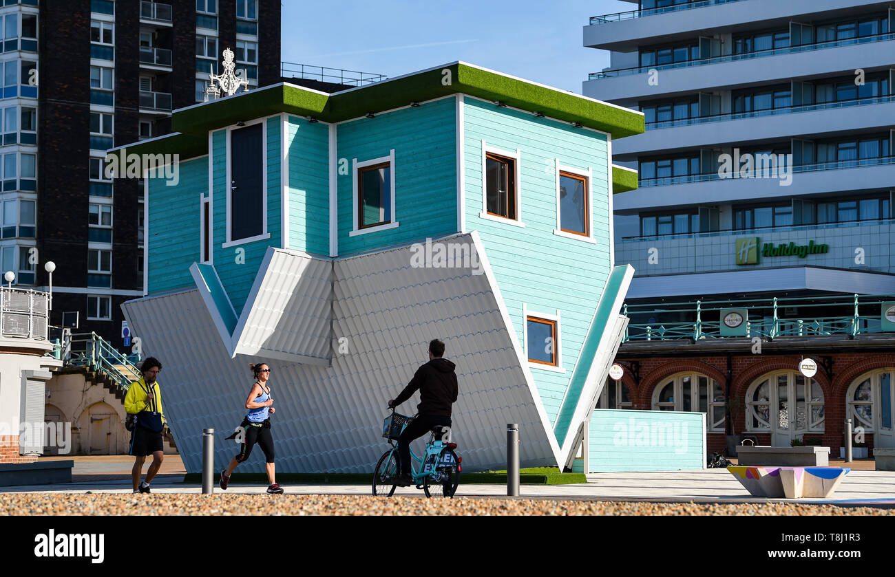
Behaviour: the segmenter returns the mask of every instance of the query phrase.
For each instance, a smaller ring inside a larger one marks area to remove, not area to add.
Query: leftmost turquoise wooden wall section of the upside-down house
[[[179,170],[177,186],[149,179],[144,250],[150,294],[194,286],[190,265],[200,259],[200,197],[209,190],[209,157],[184,160]]]

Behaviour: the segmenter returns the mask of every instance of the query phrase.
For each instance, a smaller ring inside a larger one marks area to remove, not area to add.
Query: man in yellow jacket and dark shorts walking
[[[133,469],[131,470],[134,493],[149,493],[149,483],[155,478],[165,458],[165,447],[162,441],[163,420],[162,395],[158,386],[158,373],[162,363],[155,357],[143,361],[141,371],[143,377],[131,383],[124,396],[124,411],[136,415],[131,433],[131,450]],[[146,479],[141,483],[140,476],[146,457],[152,455],[152,464],[146,472]]]

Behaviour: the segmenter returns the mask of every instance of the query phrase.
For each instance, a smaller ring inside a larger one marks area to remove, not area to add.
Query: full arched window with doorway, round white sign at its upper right
[[[792,370],[765,374],[746,391],[746,430],[771,431],[774,446],[799,434],[823,432],[823,390],[812,378]]]

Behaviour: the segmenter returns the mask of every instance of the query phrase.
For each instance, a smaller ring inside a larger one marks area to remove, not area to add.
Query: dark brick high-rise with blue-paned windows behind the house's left
[[[234,50],[250,89],[280,80],[277,0],[5,0],[0,259],[46,286],[52,324],[121,344],[143,293],[141,182],[107,179],[107,149],[170,132]]]

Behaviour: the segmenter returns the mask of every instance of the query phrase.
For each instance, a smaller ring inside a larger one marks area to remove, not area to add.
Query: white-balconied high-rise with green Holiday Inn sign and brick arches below
[[[612,148],[636,273],[602,406],[706,412],[710,450],[735,429],[838,456],[843,418],[895,446],[891,3],[632,4],[584,27],[611,51],[584,95],[646,123]]]

